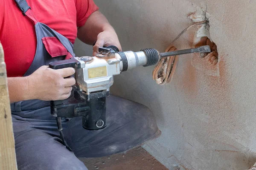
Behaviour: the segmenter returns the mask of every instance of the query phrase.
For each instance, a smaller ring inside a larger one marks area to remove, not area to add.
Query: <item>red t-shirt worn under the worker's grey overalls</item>
[[[93,0],[26,0],[37,20],[67,37],[72,43],[77,27],[99,8]],[[23,76],[36,50],[33,23],[23,16],[14,0],[0,0],[0,41],[8,77]]]

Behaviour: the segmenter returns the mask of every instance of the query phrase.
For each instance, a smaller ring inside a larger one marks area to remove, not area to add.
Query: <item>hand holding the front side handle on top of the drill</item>
[[[116,32],[112,28],[98,34],[97,41],[93,46],[93,56],[96,56],[99,53],[99,47],[107,47],[109,45],[114,45],[119,49],[119,51],[122,51]]]

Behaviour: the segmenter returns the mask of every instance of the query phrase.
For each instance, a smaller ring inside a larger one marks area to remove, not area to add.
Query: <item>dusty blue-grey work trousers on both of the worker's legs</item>
[[[62,144],[49,106],[38,109],[31,103],[28,108],[23,107],[23,103],[12,105],[18,170],[87,170],[76,156],[89,158],[120,153],[161,133],[147,107],[110,96],[108,125],[104,129],[85,130],[81,117],[62,120],[64,138],[75,156]],[[20,111],[23,117],[18,116]],[[26,115],[29,118],[25,118]]]

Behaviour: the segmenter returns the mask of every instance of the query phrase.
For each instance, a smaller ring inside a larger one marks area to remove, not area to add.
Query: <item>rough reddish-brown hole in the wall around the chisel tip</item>
[[[200,58],[205,58],[210,64],[216,65],[218,63],[217,45],[214,42],[212,42],[208,37],[201,37],[201,40],[195,45],[195,48],[200,47],[202,45],[209,45],[211,48],[211,52],[201,53]]]

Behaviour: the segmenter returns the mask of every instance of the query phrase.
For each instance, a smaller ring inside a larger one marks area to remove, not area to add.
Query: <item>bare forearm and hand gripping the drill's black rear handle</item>
[[[53,70],[44,65],[28,77],[9,77],[7,81],[10,102],[67,99],[72,91],[71,86],[76,83],[74,77],[69,77],[74,73],[74,68]]]

